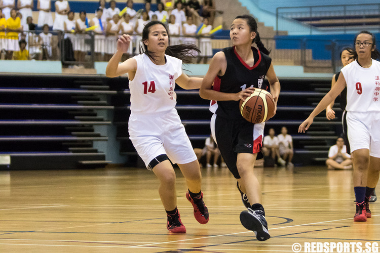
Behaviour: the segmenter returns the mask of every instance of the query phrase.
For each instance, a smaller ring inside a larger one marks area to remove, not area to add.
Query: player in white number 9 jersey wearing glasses
[[[356,61],[341,69],[342,74],[331,91],[298,128],[299,133],[305,133],[314,117],[347,86],[347,133],[353,157],[356,198],[354,221],[367,221],[371,217],[366,195],[370,196],[370,191],[376,186],[378,173],[377,179],[369,181],[369,164],[371,171],[380,171],[380,62],[374,60],[380,54],[375,43],[375,36],[368,31],[361,31],[355,37],[355,51],[352,53]]]

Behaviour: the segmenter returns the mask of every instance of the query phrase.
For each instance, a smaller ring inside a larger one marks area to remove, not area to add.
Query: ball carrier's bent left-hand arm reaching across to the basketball
[[[218,52],[212,57],[210,66],[206,75],[203,77],[202,86],[199,90],[199,95],[203,99],[216,100],[216,101],[227,101],[227,100],[244,100],[243,97],[248,97],[253,93],[254,88],[245,89],[239,93],[224,93],[214,91],[212,89],[212,84],[217,75],[223,75],[225,69],[227,68],[227,60],[223,52]]]

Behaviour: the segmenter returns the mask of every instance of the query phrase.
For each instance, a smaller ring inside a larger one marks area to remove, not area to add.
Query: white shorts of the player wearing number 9
[[[347,112],[347,134],[351,152],[365,148],[380,158],[380,112]]]

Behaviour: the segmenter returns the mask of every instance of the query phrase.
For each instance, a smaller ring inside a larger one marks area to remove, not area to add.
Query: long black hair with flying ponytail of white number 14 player
[[[142,41],[148,39],[150,27],[157,24],[164,26],[166,33],[168,34],[169,46],[166,48],[165,54],[178,58],[182,60],[182,62],[184,63],[190,63],[191,60],[189,60],[188,57],[194,56],[193,54],[194,51],[197,51],[198,53],[201,52],[197,48],[197,46],[194,44],[180,44],[180,45],[170,46],[170,35],[169,35],[168,27],[164,23],[158,20],[150,21],[144,26],[144,29],[142,30],[142,39],[141,39]],[[148,47],[144,43],[142,43],[142,45],[143,47],[141,47],[140,45],[140,48],[139,48],[140,54],[144,53],[150,59],[154,60],[156,58],[155,53],[149,51]]]

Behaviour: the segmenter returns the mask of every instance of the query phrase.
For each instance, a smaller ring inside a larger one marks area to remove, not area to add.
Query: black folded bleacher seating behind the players
[[[94,125],[114,125],[126,165],[141,164],[129,140],[128,79],[100,76],[7,75],[0,87],[0,155],[10,154],[11,169],[77,168],[104,166],[105,154],[93,141],[110,141]],[[328,121],[322,112],[307,134],[298,125],[310,114],[330,87],[330,78],[281,78],[277,114],[266,123],[280,133],[283,125],[293,136],[294,163],[321,163],[341,132],[340,120]],[[210,134],[209,101],[198,91],[178,86],[177,110],[193,147],[203,148]],[[113,118],[97,110],[113,110]],[[339,117],[340,110],[334,108]]]

